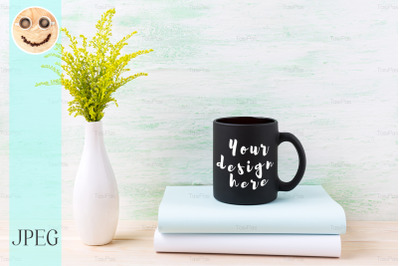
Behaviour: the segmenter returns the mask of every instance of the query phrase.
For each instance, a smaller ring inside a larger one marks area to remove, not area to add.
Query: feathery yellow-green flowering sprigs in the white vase
[[[143,72],[122,76],[130,71],[127,65],[132,59],[153,50],[140,50],[122,55],[121,50],[128,44],[127,40],[137,32],[134,31],[112,44],[110,37],[114,14],[115,9],[110,9],[101,16],[96,24],[97,33],[91,40],[79,35],[81,45],[77,37],[72,36],[66,28],[62,28],[61,31],[69,39],[71,51],[58,44],[55,53],[46,57],[57,57],[63,64],[42,65],[42,68],[53,71],[60,78],[36,84],[63,85],[73,97],[68,103],[70,115],[82,115],[88,122],[100,121],[110,102],[118,106],[117,100],[112,96],[118,88],[140,76],[147,76],[147,73]]]

